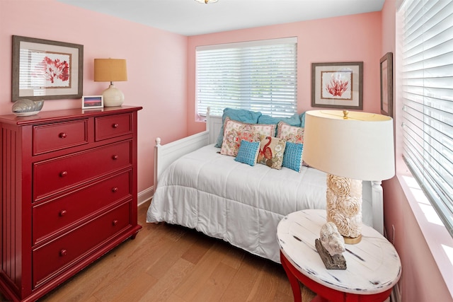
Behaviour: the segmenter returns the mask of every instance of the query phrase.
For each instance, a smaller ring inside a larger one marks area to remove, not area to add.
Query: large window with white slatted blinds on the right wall
[[[453,236],[453,1],[406,0],[403,156]]]

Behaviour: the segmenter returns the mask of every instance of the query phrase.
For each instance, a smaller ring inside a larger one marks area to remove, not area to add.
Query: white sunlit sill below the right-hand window
[[[437,268],[453,297],[453,238],[411,175],[397,175]]]

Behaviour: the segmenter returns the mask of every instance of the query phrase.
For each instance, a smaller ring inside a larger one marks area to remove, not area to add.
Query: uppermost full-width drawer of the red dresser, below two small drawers
[[[33,164],[33,200],[132,165],[132,141]]]

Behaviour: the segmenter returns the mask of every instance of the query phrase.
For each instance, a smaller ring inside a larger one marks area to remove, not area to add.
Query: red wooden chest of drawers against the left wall
[[[137,224],[141,107],[0,116],[0,291],[35,301]]]

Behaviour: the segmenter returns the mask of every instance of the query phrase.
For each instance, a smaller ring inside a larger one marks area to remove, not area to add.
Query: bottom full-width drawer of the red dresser
[[[131,202],[121,204],[97,219],[74,228],[64,236],[36,248],[33,257],[33,286],[39,286],[47,278],[64,272],[69,265],[81,260],[103,241],[123,229],[132,226],[130,221]]]

